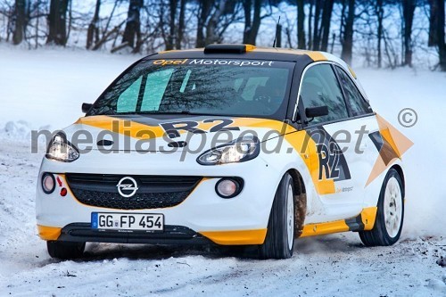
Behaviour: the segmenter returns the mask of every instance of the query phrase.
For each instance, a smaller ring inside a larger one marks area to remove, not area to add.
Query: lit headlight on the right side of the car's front
[[[202,153],[196,161],[202,165],[244,162],[254,159],[259,153],[259,138],[255,136],[244,136],[229,144],[223,144]]]

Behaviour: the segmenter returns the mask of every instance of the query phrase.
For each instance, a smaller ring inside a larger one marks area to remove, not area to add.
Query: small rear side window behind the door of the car
[[[344,70],[336,66],[337,73],[339,74],[339,79],[341,85],[343,85],[343,90],[347,101],[350,103],[351,114],[353,116],[359,116],[362,114],[367,114],[371,111],[370,105],[359,93],[358,88],[351,81],[351,78],[345,73]]]

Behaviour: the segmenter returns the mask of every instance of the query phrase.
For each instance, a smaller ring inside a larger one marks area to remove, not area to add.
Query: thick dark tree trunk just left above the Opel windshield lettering
[[[130,0],[128,5],[128,18],[126,21],[126,29],[122,37],[122,44],[127,44],[133,48],[133,52],[139,52],[141,41],[141,21],[139,18],[144,0]]]

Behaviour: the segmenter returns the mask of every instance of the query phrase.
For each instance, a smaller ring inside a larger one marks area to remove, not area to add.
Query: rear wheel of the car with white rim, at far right
[[[370,231],[360,231],[359,237],[366,246],[392,245],[400,239],[404,221],[404,188],[395,169],[390,169],[384,178],[377,207],[375,226]]]

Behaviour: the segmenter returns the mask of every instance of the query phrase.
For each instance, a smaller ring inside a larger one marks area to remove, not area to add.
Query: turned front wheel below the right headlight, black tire
[[[277,187],[267,236],[259,249],[260,259],[288,259],[293,256],[294,224],[293,177],[286,173]]]

